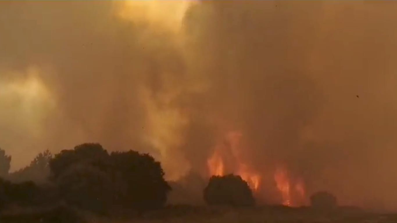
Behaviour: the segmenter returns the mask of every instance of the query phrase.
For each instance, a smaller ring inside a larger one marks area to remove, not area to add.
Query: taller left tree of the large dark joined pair
[[[109,155],[100,144],[62,150],[50,160],[50,179],[60,199],[72,206],[103,213],[114,197]]]

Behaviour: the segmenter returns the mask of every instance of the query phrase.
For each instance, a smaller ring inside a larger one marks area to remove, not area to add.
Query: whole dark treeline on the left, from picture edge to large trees
[[[3,209],[65,203],[95,213],[120,207],[145,211],[164,206],[171,190],[152,156],[135,151],[108,153],[100,144],[82,144],[55,156],[46,151],[14,173],[8,173],[10,161],[1,150]]]

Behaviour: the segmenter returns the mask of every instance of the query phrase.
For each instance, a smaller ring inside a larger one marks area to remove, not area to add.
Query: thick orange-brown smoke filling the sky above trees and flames
[[[396,4],[2,2],[0,146],[18,169],[100,142],[175,180],[239,132],[268,194],[283,167],[396,210]]]

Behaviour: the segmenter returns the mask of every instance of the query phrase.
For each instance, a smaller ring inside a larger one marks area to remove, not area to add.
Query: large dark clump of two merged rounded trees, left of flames
[[[164,206],[171,189],[159,162],[135,151],[108,154],[100,144],[63,150],[50,161],[51,180],[67,204],[104,213]]]

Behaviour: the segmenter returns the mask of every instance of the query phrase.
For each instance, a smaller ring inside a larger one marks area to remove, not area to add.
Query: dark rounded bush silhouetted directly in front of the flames
[[[254,206],[247,182],[238,175],[212,176],[204,189],[204,200],[217,206]]]

